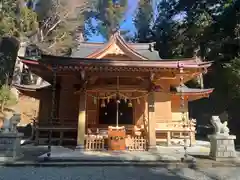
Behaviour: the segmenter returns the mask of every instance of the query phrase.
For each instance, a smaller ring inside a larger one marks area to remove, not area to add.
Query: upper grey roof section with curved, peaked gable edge
[[[112,46],[117,45],[121,51],[133,59],[141,60],[160,60],[159,54],[153,49],[151,43],[127,43],[120,33],[115,33],[107,43],[81,43],[73,51],[72,57],[75,58],[98,58],[106,53]]]

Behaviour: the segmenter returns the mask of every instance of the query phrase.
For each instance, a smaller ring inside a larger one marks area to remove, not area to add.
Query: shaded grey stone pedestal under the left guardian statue
[[[14,161],[22,157],[22,133],[0,133],[0,162]]]

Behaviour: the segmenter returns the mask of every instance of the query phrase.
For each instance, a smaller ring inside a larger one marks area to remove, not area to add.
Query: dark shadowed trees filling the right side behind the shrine
[[[149,10],[142,8],[141,2],[138,12],[148,14]],[[191,105],[195,107],[195,114],[199,116],[206,112],[219,113],[227,110],[229,117],[238,121],[240,0],[161,0],[157,11],[156,20],[151,20],[151,26],[147,22],[143,23],[143,16],[137,14],[135,40],[156,42],[156,49],[162,58],[197,55],[204,61],[214,61],[204,78],[205,87],[215,89],[213,94],[209,99]],[[151,36],[146,38],[147,34]],[[236,124],[232,125],[235,126]]]

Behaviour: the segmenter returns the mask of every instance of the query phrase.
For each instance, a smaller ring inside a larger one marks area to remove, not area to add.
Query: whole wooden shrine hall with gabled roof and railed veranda
[[[210,62],[161,59],[153,44],[127,43],[120,33],[107,43],[83,42],[71,57],[19,58],[46,82],[15,85],[40,100],[36,144],[147,150],[187,139],[193,145],[188,102],[213,91],[184,85],[206,73]]]

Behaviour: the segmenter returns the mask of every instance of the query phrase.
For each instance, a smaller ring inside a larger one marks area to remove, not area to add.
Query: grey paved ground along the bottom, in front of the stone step
[[[240,168],[0,167],[0,180],[240,180]]]

